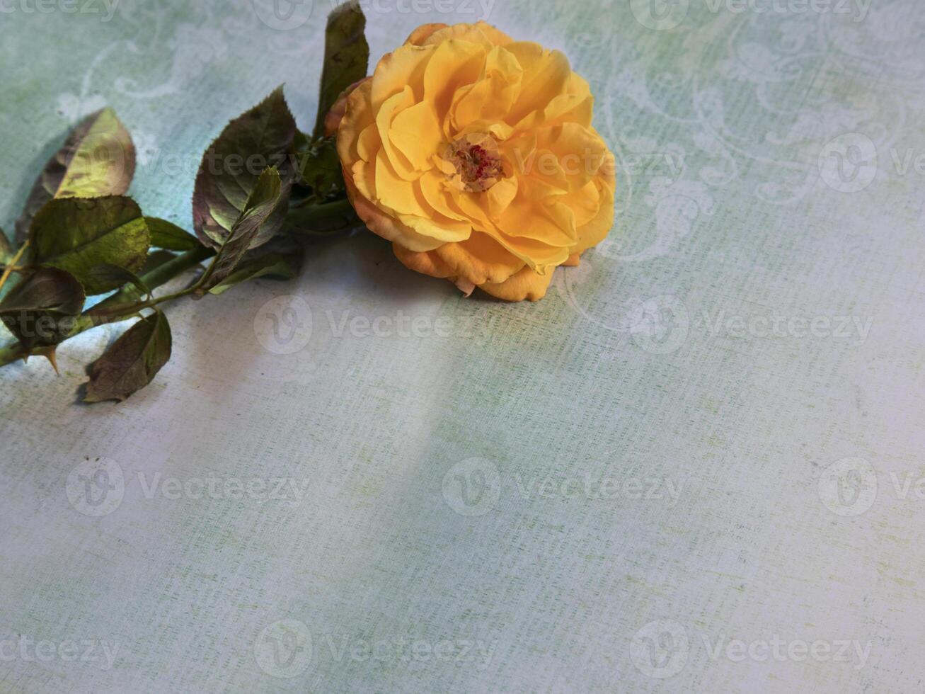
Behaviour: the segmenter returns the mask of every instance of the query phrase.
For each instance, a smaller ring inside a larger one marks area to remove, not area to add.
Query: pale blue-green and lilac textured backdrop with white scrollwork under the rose
[[[102,105],[187,228],[229,118],[310,128],[327,3],[77,2],[0,5],[4,229]],[[0,692],[920,691],[919,3],[367,13],[564,50],[610,237],[515,305],[322,245],[169,307],[123,404],[75,404],[120,328],[3,369]]]

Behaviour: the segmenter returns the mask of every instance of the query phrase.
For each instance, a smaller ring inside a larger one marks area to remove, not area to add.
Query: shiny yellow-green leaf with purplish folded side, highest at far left
[[[84,118],[48,160],[16,223],[17,241],[29,236],[32,218],[53,198],[122,195],[135,174],[135,145],[111,108]]]

